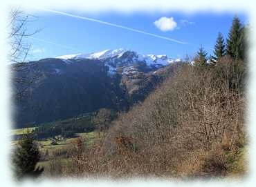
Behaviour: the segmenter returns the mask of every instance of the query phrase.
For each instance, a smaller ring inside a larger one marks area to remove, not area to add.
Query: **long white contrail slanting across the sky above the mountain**
[[[47,8],[39,8],[39,7],[36,7],[36,6],[33,6],[33,8],[38,8],[38,9],[45,10],[45,11],[48,11],[48,12],[53,12],[55,14],[62,14],[62,15],[68,16],[68,17],[75,17],[75,18],[78,18],[78,19],[84,19],[84,20],[87,20],[87,21],[93,21],[93,22],[97,22],[97,23],[102,23],[102,24],[107,25],[107,26],[113,26],[113,27],[116,27],[116,28],[122,28],[122,29],[125,29],[125,30],[130,30],[132,32],[138,32],[140,34],[149,35],[149,36],[160,38],[160,39],[166,39],[168,41],[174,41],[174,42],[180,43],[180,44],[190,44],[190,43],[187,43],[187,42],[184,42],[184,41],[179,41],[179,40],[172,39],[172,38],[169,38],[169,37],[163,37],[161,35],[155,35],[155,34],[152,34],[152,33],[149,33],[149,32],[145,32],[145,31],[142,31],[142,30],[137,30],[137,29],[134,29],[134,28],[126,27],[126,26],[117,25],[115,23],[110,23],[110,22],[107,22],[107,21],[101,21],[99,19],[93,19],[93,18],[89,18],[89,17],[81,17],[81,16],[77,16],[75,14],[69,14],[69,13],[60,12],[60,11],[57,11],[57,10],[50,10],[50,9],[47,9]]]

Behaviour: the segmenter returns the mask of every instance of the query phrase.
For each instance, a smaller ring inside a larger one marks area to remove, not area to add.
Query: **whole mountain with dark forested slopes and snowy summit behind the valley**
[[[64,55],[12,65],[15,79],[15,124],[24,127],[66,119],[100,108],[128,110],[172,72],[181,59],[139,55],[122,48]]]

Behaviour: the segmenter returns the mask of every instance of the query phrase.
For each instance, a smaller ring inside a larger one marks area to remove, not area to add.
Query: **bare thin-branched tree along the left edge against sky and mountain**
[[[9,20],[9,40],[11,46],[9,61],[12,63],[11,71],[14,73],[12,86],[14,87],[15,99],[21,99],[24,92],[28,90],[37,77],[39,77],[39,72],[35,65],[27,63],[28,61],[26,61],[31,44],[25,41],[26,37],[30,37],[39,32],[39,29],[28,32],[28,23],[36,21],[37,17],[23,12],[19,8],[10,9]]]

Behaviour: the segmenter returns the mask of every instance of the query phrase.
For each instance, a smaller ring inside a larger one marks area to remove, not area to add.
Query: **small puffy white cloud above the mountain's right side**
[[[162,31],[172,31],[177,27],[173,17],[161,17],[154,22],[155,26]]]

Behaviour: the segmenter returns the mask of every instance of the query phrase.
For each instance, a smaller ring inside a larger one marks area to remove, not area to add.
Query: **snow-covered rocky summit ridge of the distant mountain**
[[[122,74],[128,74],[129,72],[138,72],[138,66],[145,66],[148,70],[157,70],[174,61],[181,61],[181,59],[170,59],[167,55],[140,55],[133,50],[125,50],[123,48],[89,54],[64,55],[56,58],[62,59],[66,63],[70,63],[72,59],[98,59],[104,61],[105,66],[109,67],[109,75],[115,74],[118,68],[122,69]]]

